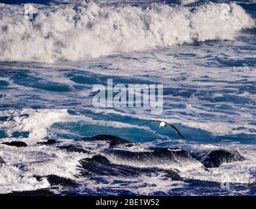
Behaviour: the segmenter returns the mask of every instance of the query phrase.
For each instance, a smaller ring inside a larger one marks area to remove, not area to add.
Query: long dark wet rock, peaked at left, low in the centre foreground
[[[164,172],[166,177],[172,180],[181,180],[181,177],[174,170],[164,170],[158,168],[139,168],[128,165],[117,165],[110,163],[107,157],[94,155],[92,158],[81,159],[82,176],[139,176],[141,174],[154,174]]]

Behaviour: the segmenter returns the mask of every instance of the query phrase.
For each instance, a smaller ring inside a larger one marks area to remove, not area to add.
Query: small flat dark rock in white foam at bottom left
[[[42,178],[47,178],[50,185],[63,185],[63,186],[73,186],[77,185],[74,180],[69,178],[64,178],[56,175],[48,175],[48,176],[33,176],[37,179],[37,181],[41,181]]]

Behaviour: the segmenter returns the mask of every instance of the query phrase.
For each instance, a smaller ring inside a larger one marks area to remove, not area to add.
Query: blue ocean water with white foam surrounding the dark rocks
[[[0,140],[28,145],[0,144],[1,194],[256,194],[255,1],[0,2]],[[108,79],[163,84],[162,113],[95,107],[92,88]],[[139,126],[148,120],[168,121],[186,139],[158,123]],[[73,140],[96,135],[136,145]],[[90,152],[37,144],[50,138]],[[245,160],[204,169],[196,160],[141,162],[105,152],[151,147],[236,150]],[[177,169],[181,179],[162,172],[79,175],[81,159],[96,154],[129,168]],[[76,186],[52,186],[47,175]]]

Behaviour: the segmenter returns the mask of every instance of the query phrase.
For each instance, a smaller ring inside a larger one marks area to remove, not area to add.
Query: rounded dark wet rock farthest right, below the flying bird
[[[235,150],[211,150],[207,153],[191,153],[191,155],[204,164],[206,168],[219,167],[222,163],[245,160],[245,158]]]

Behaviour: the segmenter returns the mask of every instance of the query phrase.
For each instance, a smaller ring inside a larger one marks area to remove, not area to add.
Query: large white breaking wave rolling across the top
[[[33,7],[37,13],[30,21],[25,7],[0,4],[0,61],[82,61],[185,42],[234,39],[241,29],[254,25],[235,3],[146,9],[96,3]]]

